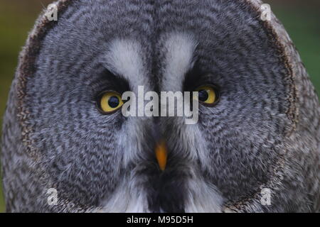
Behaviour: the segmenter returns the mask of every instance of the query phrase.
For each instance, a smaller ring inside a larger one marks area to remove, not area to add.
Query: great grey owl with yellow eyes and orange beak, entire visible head
[[[7,211],[319,211],[319,100],[261,1],[56,4],[9,94]],[[121,94],[139,85],[200,91],[198,123],[123,116]]]

